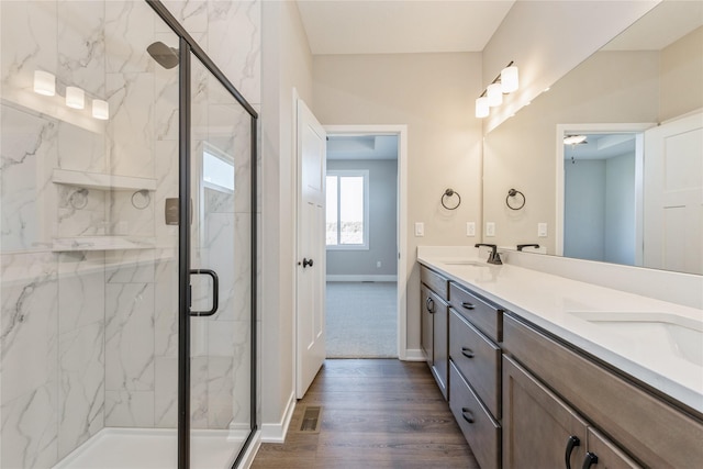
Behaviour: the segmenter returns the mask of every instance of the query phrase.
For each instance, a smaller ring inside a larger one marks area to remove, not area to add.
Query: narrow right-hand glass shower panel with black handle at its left
[[[224,468],[252,429],[252,118],[194,55],[190,64],[191,269],[219,279],[216,312],[190,322],[191,461]],[[212,310],[212,278],[191,284],[191,310]]]

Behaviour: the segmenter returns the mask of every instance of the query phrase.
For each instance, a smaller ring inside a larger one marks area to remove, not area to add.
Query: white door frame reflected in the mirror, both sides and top
[[[635,233],[635,264],[641,265],[643,258],[643,228],[641,223],[639,223],[643,219],[643,165],[644,165],[644,134],[647,129],[655,126],[654,123],[633,123],[633,124],[613,124],[613,123],[603,123],[603,124],[557,124],[556,132],[556,212],[555,212],[555,255],[563,256],[563,197],[565,197],[565,167],[563,167],[563,137],[568,134],[638,134],[637,136],[637,148],[636,148],[636,169],[635,169],[635,178],[639,181],[636,185],[636,208],[635,208],[635,217],[638,221],[637,230]],[[638,264],[639,263],[639,264]]]

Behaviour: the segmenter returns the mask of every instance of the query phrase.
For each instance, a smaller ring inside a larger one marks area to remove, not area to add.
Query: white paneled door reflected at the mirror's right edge
[[[703,273],[703,113],[645,132],[645,267]]]

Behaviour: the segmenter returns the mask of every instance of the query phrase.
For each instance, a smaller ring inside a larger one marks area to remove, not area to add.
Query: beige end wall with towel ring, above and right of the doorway
[[[419,245],[462,245],[466,222],[481,220],[481,122],[473,100],[481,91],[481,55],[322,55],[313,60],[314,112],[326,125],[408,125],[408,349],[420,349]],[[455,211],[442,208],[445,189],[461,194]],[[425,236],[414,237],[415,222]]]

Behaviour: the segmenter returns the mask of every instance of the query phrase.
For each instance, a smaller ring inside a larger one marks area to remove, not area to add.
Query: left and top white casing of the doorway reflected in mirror
[[[563,136],[567,133],[643,133],[647,129],[654,127],[655,123],[637,124],[557,124],[556,146],[557,146],[557,169],[556,169],[556,213],[555,213],[555,252],[557,256],[563,256]]]

